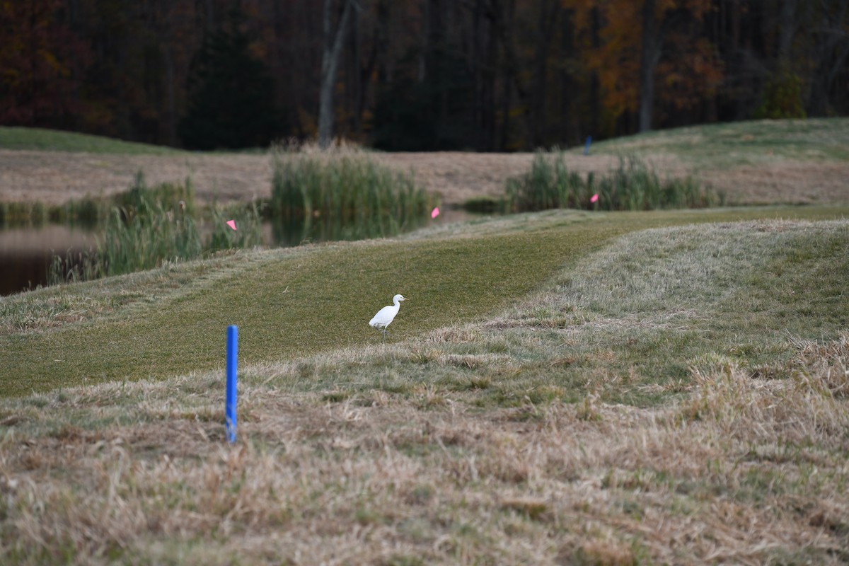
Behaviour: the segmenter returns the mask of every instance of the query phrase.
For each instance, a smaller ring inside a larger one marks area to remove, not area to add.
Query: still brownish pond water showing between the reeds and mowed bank
[[[464,221],[473,217],[463,210],[445,210],[436,222]],[[70,253],[92,249],[98,228],[72,227],[59,224],[42,226],[0,226],[0,295],[20,293],[48,283],[48,270],[53,255],[63,258]],[[270,223],[263,225],[267,245],[290,245],[291,234],[281,234]],[[300,237],[300,236],[298,236]],[[313,239],[312,241],[316,241]]]

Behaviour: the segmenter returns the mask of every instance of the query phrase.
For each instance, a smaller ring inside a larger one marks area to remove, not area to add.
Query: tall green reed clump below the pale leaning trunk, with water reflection
[[[393,236],[418,227],[436,200],[412,173],[375,165],[363,152],[280,149],[270,214],[286,244]]]

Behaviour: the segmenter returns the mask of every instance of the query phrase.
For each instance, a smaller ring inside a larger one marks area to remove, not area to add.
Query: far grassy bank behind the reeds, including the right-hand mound
[[[622,137],[565,154],[566,165],[581,173],[604,173],[616,166],[617,154],[636,154],[661,175],[693,175],[727,194],[732,203],[846,203],[849,162],[846,119],[760,120],[691,126]],[[13,132],[4,132],[7,148],[27,148]],[[51,143],[49,134],[39,143]],[[57,148],[99,148],[105,138],[53,137]],[[75,143],[77,145],[75,145]],[[350,145],[341,143],[341,150]],[[40,145],[38,147],[49,147]],[[112,146],[120,154],[0,149],[0,200],[41,200],[48,205],[86,194],[113,194],[132,184],[142,170],[152,184],[182,183],[191,177],[202,201],[267,198],[271,191],[271,154],[139,154]],[[310,150],[307,147],[307,150]],[[443,203],[460,204],[481,195],[500,197],[509,177],[531,168],[531,153],[374,152],[381,165],[414,171],[426,190],[440,193]]]

